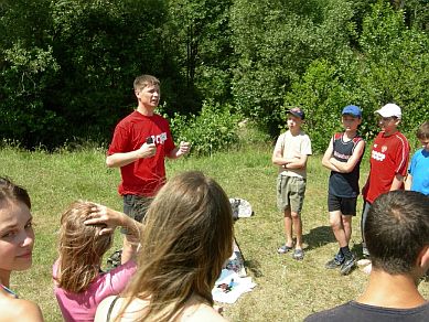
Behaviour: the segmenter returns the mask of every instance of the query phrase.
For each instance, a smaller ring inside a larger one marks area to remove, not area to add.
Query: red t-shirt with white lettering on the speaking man
[[[121,182],[119,194],[153,196],[165,183],[164,158],[174,148],[170,126],[167,119],[154,114],[144,116],[135,110],[115,128],[108,155],[138,150],[148,137],[157,144],[157,154],[136,160],[120,168]]]

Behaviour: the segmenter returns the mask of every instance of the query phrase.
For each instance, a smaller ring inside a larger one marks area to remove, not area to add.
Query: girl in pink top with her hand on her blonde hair
[[[94,321],[99,302],[120,293],[136,271],[132,258],[108,272],[101,271],[103,256],[111,247],[116,226],[126,227],[135,239],[141,228],[125,214],[92,202],[74,202],[63,213],[53,279],[65,321]]]

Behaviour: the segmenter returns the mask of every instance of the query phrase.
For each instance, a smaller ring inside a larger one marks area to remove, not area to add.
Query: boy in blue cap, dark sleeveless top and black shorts
[[[361,121],[361,108],[355,105],[344,107],[342,111],[344,132],[334,133],[322,159],[322,164],[331,170],[328,210],[332,232],[340,246],[339,253],[326,262],[325,268],[340,268],[342,275],[347,275],[356,261],[348,243],[352,235],[352,218],[356,215],[360,165],[365,150],[365,141],[357,133]]]

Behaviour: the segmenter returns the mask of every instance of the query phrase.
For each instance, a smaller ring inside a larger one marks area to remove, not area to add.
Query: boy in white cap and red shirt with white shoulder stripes
[[[400,107],[396,104],[386,104],[375,112],[378,114],[378,125],[382,131],[374,139],[369,159],[369,175],[362,191],[365,202],[361,221],[362,232],[364,232],[366,216],[375,198],[388,191],[404,189],[404,178],[407,175],[408,167],[409,143],[397,129],[403,116]],[[365,239],[363,255],[369,255]]]

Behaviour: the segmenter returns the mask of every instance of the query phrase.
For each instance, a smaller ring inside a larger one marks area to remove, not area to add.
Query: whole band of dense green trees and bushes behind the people
[[[0,138],[107,142],[140,74],[161,79],[162,112],[199,153],[234,143],[239,117],[275,137],[296,105],[315,151],[347,104],[371,139],[373,111],[397,103],[411,136],[429,119],[428,21],[425,0],[4,0]]]

